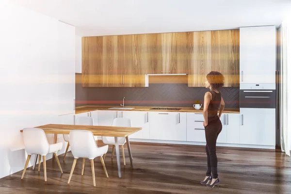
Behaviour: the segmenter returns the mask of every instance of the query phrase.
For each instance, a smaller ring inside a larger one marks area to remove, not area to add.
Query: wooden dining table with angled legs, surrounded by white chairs
[[[130,143],[129,143],[129,135],[142,129],[139,127],[113,127],[113,126],[65,125],[65,124],[49,124],[49,125],[38,126],[35,128],[43,129],[44,132],[47,134],[54,134],[54,144],[57,143],[58,134],[69,134],[71,130],[76,130],[76,129],[91,131],[94,134],[94,136],[114,137],[119,178],[121,178],[121,169],[120,169],[119,145],[118,145],[117,138],[118,137],[126,138],[127,147],[129,151],[130,165],[133,168],[132,154],[131,154]],[[22,131],[23,130],[20,130],[20,132]],[[54,160],[54,157],[53,157],[53,160]],[[35,162],[34,162],[34,165],[35,165]]]

